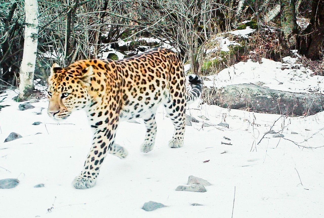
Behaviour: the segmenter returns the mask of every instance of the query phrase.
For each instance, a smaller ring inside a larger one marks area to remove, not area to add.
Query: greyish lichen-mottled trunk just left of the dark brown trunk
[[[297,20],[295,0],[281,0],[281,44],[285,50],[295,49]]]

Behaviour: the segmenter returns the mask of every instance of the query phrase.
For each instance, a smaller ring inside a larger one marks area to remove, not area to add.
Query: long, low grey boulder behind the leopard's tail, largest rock
[[[223,108],[292,116],[314,115],[323,111],[324,102],[324,95],[278,91],[254,84],[209,88],[201,98],[207,104]]]

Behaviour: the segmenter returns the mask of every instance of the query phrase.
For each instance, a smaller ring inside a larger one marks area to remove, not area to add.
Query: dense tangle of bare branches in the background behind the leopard
[[[294,1],[292,1],[294,2]],[[22,0],[0,0],[0,84],[17,85],[24,42]],[[53,61],[67,66],[97,58],[103,43],[140,36],[168,40],[199,73],[203,46],[211,36],[245,19],[264,23],[274,0],[48,0],[38,1],[39,35],[35,76],[46,78]],[[311,2],[295,3],[299,16]],[[275,15],[275,16],[278,16]],[[280,15],[279,15],[280,16]],[[280,21],[280,18],[277,19]],[[273,22],[276,22],[275,20]]]

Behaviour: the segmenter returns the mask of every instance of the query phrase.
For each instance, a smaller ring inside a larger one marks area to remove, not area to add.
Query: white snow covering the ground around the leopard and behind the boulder
[[[235,73],[227,69],[205,83],[226,86],[230,81],[263,81],[271,86],[280,81],[282,85],[272,88],[293,87],[293,91],[322,81],[308,71],[293,76],[296,69],[278,70],[279,63],[263,62],[238,63]],[[324,112],[290,118],[195,102],[187,114],[200,122],[186,127],[184,147],[171,149],[168,140],[173,125],[160,108],[153,151],[139,151],[145,136],[143,121],[122,122],[116,143],[124,146],[129,156],[121,160],[108,155],[96,186],[77,190],[71,182],[82,170],[92,139],[86,114],[75,112],[57,125],[46,109],[36,114],[47,108],[46,99],[33,103],[34,109],[20,111],[19,103],[11,99],[14,96],[13,91],[0,95],[0,101],[6,98],[0,105],[10,105],[0,111],[0,141],[10,132],[23,137],[0,144],[0,179],[18,178],[20,183],[13,189],[0,189],[1,218],[209,218],[231,217],[232,213],[239,218],[324,216]],[[42,123],[32,125],[35,121]],[[229,128],[218,126],[221,122]],[[264,136],[270,129],[284,138]],[[175,191],[187,183],[189,175],[213,185],[203,193]],[[34,188],[39,183],[45,187]],[[148,201],[168,207],[146,212],[141,208]]]

